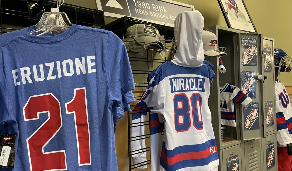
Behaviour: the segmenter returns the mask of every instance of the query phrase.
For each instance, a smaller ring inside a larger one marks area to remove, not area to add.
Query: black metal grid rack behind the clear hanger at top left
[[[38,3],[32,9],[32,4]],[[0,34],[28,27],[39,22],[41,9],[46,12],[56,7],[56,1],[52,0],[0,0]],[[104,13],[100,10],[64,3],[60,11],[65,12],[70,21],[88,27],[105,28]],[[3,27],[3,24],[9,27]]]

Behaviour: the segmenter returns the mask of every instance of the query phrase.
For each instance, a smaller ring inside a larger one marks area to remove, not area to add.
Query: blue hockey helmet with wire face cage
[[[281,67],[281,72],[292,70],[292,59],[282,49],[274,49],[275,67]]]

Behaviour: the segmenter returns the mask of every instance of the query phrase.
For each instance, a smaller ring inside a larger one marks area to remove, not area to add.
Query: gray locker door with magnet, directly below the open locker
[[[242,170],[241,144],[222,150],[223,170]]]

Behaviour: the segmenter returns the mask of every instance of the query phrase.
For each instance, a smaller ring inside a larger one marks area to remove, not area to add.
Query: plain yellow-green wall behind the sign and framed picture
[[[227,27],[217,0],[176,0],[178,2],[193,5],[205,18],[205,27],[221,25]],[[65,0],[88,8],[96,8],[95,0]],[[258,33],[274,38],[275,47],[283,49],[292,57],[292,20],[291,20],[291,0],[266,1],[266,0],[245,0],[248,12]],[[107,21],[107,20],[106,20]],[[281,73],[279,79],[285,85],[292,85],[290,73]]]

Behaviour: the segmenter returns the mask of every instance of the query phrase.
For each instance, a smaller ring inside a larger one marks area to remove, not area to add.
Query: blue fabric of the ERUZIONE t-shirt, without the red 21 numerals
[[[45,112],[39,114],[39,119],[25,121],[23,108],[30,96],[49,93],[60,102],[62,126],[44,146],[44,152],[65,150],[67,170],[118,170],[113,117],[121,118],[124,110],[113,111],[124,109],[122,96],[134,89],[121,39],[110,31],[73,25],[54,36],[25,33],[3,45],[0,51],[0,129],[1,133],[17,135],[13,170],[30,170],[26,140],[48,119]],[[76,62],[80,61],[83,66],[83,60],[85,73]],[[40,65],[44,80],[41,80]],[[16,71],[15,77],[12,71]],[[86,88],[91,165],[79,166],[74,114],[66,114],[65,103],[73,99],[74,89],[83,87]]]

